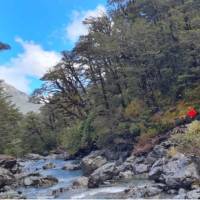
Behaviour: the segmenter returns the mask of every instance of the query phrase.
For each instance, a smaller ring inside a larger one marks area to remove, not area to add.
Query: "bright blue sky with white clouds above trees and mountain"
[[[106,0],[1,0],[0,79],[31,94],[40,78],[87,34],[82,21],[106,12]]]

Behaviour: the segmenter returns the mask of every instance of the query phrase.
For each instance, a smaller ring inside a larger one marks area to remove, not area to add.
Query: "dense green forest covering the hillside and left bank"
[[[200,111],[199,0],[109,0],[83,23],[89,33],[32,94],[39,114],[23,115],[0,89],[1,154],[137,151],[184,123],[189,106]],[[174,140],[199,155],[200,132]]]

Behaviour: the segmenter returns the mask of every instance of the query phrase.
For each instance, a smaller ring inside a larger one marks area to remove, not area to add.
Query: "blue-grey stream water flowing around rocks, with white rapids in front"
[[[35,188],[32,186],[29,187],[20,187],[17,191],[22,192],[22,194],[28,199],[53,199],[55,196],[52,195],[52,192],[59,188],[67,188],[72,184],[72,182],[78,177],[82,176],[81,170],[68,171],[62,170],[62,167],[67,163],[73,161],[63,161],[56,159],[48,160],[33,160],[22,162],[23,172],[25,173],[35,173],[38,172],[43,176],[51,175],[58,179],[58,183],[48,188]],[[53,169],[43,169],[43,166],[47,163],[53,163],[55,168]],[[144,185],[148,184],[149,181],[144,179],[134,179],[127,182],[118,182],[113,183],[109,186],[103,186],[96,189],[76,189],[69,190],[61,193],[56,198],[59,199],[111,199],[114,198],[114,194],[117,192],[122,192],[131,185]]]

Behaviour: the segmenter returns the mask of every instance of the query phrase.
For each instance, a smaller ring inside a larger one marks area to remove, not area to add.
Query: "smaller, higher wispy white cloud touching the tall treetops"
[[[88,33],[88,27],[83,24],[83,21],[89,17],[101,17],[105,13],[106,8],[103,5],[98,5],[94,10],[73,11],[71,22],[65,29],[66,38],[71,42],[76,42],[79,36]]]

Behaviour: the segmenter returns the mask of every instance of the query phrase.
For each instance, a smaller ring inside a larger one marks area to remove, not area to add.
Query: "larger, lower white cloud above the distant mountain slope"
[[[16,38],[23,52],[0,65],[0,79],[15,86],[21,91],[30,92],[29,77],[40,78],[52,66],[56,65],[61,56],[54,51],[46,51],[33,41]]]

